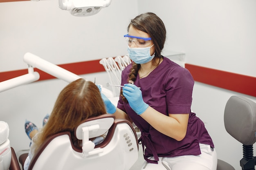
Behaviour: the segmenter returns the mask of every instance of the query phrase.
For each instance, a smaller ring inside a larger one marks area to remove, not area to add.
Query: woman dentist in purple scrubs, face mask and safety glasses
[[[191,112],[193,77],[161,55],[166,39],[162,20],[154,13],[138,15],[124,38],[132,63],[122,72],[117,107],[101,95],[108,113],[140,129],[146,160],[141,169],[216,170],[213,141]]]

